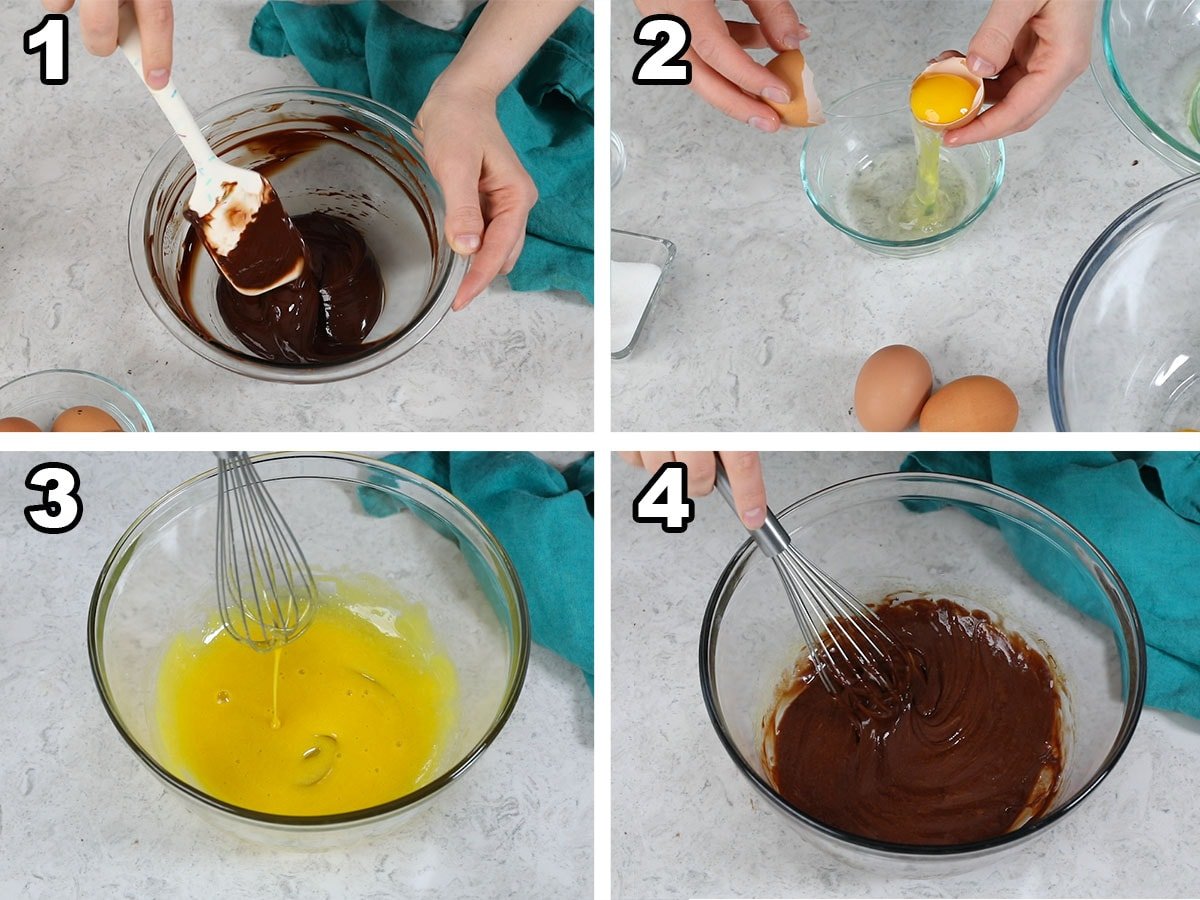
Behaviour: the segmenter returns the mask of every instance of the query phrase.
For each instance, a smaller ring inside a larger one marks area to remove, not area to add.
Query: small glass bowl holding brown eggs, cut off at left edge
[[[48,368],[0,386],[0,418],[17,415],[49,431],[64,409],[96,407],[116,420],[121,431],[154,431],[137,397],[104,376],[78,368]]]

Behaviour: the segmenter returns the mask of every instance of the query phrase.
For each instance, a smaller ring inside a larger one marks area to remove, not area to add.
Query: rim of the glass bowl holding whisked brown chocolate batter
[[[977,853],[980,851],[995,850],[1002,847],[1007,844],[1013,844],[1030,835],[1046,828],[1060,818],[1062,818],[1068,811],[1078,806],[1085,797],[1092,793],[1096,787],[1105,779],[1105,776],[1112,770],[1116,763],[1120,761],[1121,756],[1124,754],[1126,748],[1129,745],[1129,740],[1133,738],[1134,731],[1138,726],[1138,720],[1141,716],[1142,704],[1145,702],[1146,695],[1146,638],[1141,628],[1141,618],[1138,614],[1138,607],[1134,604],[1133,596],[1129,594],[1129,589],[1126,587],[1124,581],[1112,568],[1112,564],[1108,558],[1097,550],[1084,534],[1081,534],[1074,526],[1067,522],[1064,518],[1046,509],[1042,504],[1031,500],[1030,498],[1016,493],[1007,487],[1000,485],[994,485],[988,481],[980,481],[978,479],[967,478],[965,475],[950,475],[946,473],[932,473],[932,472],[883,472],[874,475],[862,475],[859,478],[847,479],[845,481],[839,481],[838,484],[823,487],[820,491],[808,494],[800,498],[796,503],[791,504],[786,509],[781,510],[778,515],[782,520],[787,514],[793,510],[804,506],[808,503],[826,499],[829,496],[838,493],[845,493],[847,491],[854,491],[864,485],[893,482],[900,484],[936,484],[936,482],[948,482],[950,485],[960,485],[968,487],[973,491],[980,492],[984,496],[992,494],[1002,499],[1016,503],[1019,506],[1024,506],[1033,512],[1044,516],[1050,520],[1050,522],[1058,528],[1062,528],[1068,535],[1078,540],[1085,548],[1093,553],[1103,566],[1104,574],[1112,581],[1112,583],[1118,588],[1120,599],[1124,612],[1128,613],[1129,625],[1133,631],[1133,644],[1130,648],[1129,658],[1130,661],[1136,666],[1136,683],[1130,684],[1129,698],[1124,703],[1124,714],[1121,721],[1121,728],[1117,732],[1117,738],[1112,746],[1109,749],[1103,763],[1099,766],[1096,773],[1091,775],[1087,782],[1076,791],[1075,796],[1072,797],[1067,803],[1064,803],[1058,809],[1048,812],[1044,816],[1034,818],[1026,822],[1020,828],[1007,832],[1004,834],[997,835],[995,838],[989,838],[982,841],[972,841],[970,844],[946,844],[946,845],[917,845],[917,844],[893,844],[889,841],[875,840],[871,838],[864,838],[858,834],[852,834],[845,832],[840,828],[826,824],[817,818],[814,818],[805,812],[796,809],[792,804],[785,800],[776,793],[775,788],[770,784],[754,772],[742,758],[737,748],[733,745],[732,739],[728,737],[724,728],[724,715],[716,702],[715,691],[715,678],[710,672],[709,659],[715,653],[715,641],[714,637],[720,630],[720,618],[724,616],[725,608],[727,607],[727,601],[722,602],[721,594],[725,590],[725,586],[728,583],[730,577],[733,572],[739,569],[744,560],[752,556],[757,551],[757,545],[751,538],[746,540],[738,547],[733,557],[726,564],[725,569],[721,571],[720,577],[716,581],[713,593],[709,596],[708,606],[704,610],[704,618],[701,624],[700,631],[700,688],[701,694],[704,700],[704,708],[708,712],[709,722],[713,726],[713,731],[716,732],[718,739],[725,748],[725,751],[733,760],[734,766],[742,773],[743,776],[750,780],[750,782],[758,788],[772,804],[779,809],[785,815],[790,816],[792,820],[798,821],[824,838],[835,840],[838,844],[848,845],[852,847],[859,847],[868,851],[881,852],[898,858],[946,858],[946,857],[962,857],[971,853]],[[936,499],[936,498],[932,498]],[[732,598],[732,594],[730,595]],[[1130,666],[1133,667],[1133,666]]]

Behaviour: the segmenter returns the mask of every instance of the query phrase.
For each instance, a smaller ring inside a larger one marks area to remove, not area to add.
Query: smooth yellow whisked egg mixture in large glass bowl
[[[266,653],[218,624],[179,635],[157,684],[167,768],[227,803],[292,816],[367,809],[434,778],[456,720],[454,664],[424,607],[384,612],[346,592]]]

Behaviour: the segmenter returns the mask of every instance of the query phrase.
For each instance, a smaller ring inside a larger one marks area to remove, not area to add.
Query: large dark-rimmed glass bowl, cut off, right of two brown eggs
[[[1200,175],[1140,200],[1087,248],[1050,326],[1058,431],[1200,428]]]

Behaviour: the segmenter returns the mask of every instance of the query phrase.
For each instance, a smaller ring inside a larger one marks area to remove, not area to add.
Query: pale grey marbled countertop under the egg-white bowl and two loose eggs
[[[985,0],[796,0],[827,103],[966,49]],[[745,19],[742,4],[722,2]],[[1070,270],[1121,211],[1177,178],[1117,121],[1085,73],[1007,139],[992,208],[944,251],[870,253],[826,223],[800,184],[803,131],[762,134],[682,86],[637,86],[637,12],[613,5],[612,125],[629,168],[612,224],[668,238],[673,272],[632,354],[612,364],[623,431],[846,431],[866,358],[908,343],[942,382],[980,373],[1052,430],[1050,322]],[[769,59],[769,52],[756,52]],[[1136,162],[1135,162],[1136,161]],[[690,402],[665,402],[683,395]]]

